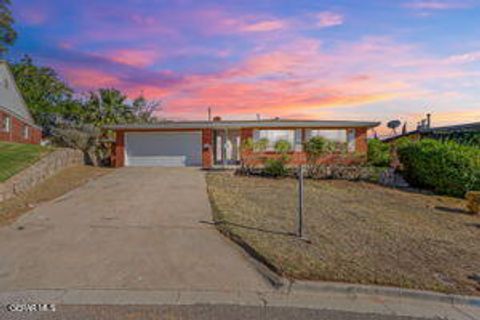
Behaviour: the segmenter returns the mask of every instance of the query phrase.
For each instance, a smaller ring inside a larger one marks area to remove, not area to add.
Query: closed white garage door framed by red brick
[[[195,132],[127,132],[125,165],[184,167],[202,164],[202,135]]]

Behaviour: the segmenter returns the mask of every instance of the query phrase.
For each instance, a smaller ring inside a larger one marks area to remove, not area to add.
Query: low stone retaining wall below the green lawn
[[[74,149],[53,151],[22,172],[0,183],[0,202],[28,191],[58,171],[84,164],[83,152]]]

